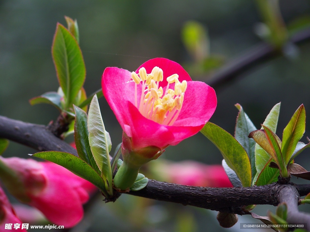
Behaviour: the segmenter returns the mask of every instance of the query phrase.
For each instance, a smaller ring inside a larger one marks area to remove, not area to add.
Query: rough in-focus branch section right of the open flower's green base
[[[281,186],[277,183],[246,188],[210,188],[149,180],[144,189],[130,191],[129,194],[242,215],[249,214],[242,211],[242,206],[277,205],[278,201],[275,196],[279,190]]]

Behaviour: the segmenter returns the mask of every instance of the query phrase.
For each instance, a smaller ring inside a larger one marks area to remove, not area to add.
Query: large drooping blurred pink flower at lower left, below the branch
[[[23,203],[38,208],[52,223],[75,226],[83,217],[82,204],[89,200],[94,186],[64,167],[17,157],[1,158],[19,178],[5,182],[8,190]]]

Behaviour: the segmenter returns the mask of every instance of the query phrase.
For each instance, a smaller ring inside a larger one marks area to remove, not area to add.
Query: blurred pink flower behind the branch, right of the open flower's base
[[[152,171],[163,181],[200,187],[233,187],[222,165],[206,165],[195,161],[154,164]]]

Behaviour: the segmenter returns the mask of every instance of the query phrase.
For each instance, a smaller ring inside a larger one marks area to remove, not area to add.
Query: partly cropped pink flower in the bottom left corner
[[[14,229],[14,224],[19,224],[20,228],[14,229],[14,231],[27,231],[25,229],[21,229],[22,222],[16,216],[16,213],[7,199],[7,196],[2,188],[0,188],[0,232],[9,231],[8,228],[5,228],[6,224],[11,224],[11,230]]]

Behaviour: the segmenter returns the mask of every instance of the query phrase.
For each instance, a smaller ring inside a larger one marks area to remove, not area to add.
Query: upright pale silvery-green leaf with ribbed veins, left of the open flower
[[[110,135],[104,128],[97,95],[93,97],[89,106],[87,126],[91,152],[101,171],[101,176],[107,179],[110,192],[112,193],[112,171],[109,156],[112,144]]]

